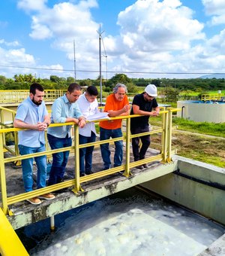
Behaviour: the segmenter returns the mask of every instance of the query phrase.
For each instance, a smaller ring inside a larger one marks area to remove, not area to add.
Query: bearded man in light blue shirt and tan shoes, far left
[[[25,128],[19,134],[19,150],[21,155],[46,151],[44,131],[49,126],[50,119],[43,102],[44,91],[40,84],[31,84],[30,95],[17,108],[14,127]],[[33,190],[33,161],[37,164],[37,188],[46,187],[46,156],[31,157],[22,160],[23,182],[25,191]],[[41,203],[40,199],[52,200],[53,194],[43,194],[40,197],[28,199],[33,205]]]

